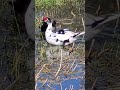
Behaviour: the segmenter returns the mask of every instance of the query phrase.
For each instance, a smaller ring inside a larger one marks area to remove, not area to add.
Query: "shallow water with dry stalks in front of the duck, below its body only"
[[[36,37],[35,74],[39,74],[36,80],[36,90],[60,90],[61,87],[63,90],[72,87],[84,90],[84,42],[78,40],[74,47],[77,49],[69,55],[71,46],[66,46],[66,49],[63,49],[61,46],[50,45],[45,40],[41,41]],[[41,53],[43,54],[41,55]],[[61,69],[56,77],[61,60]],[[41,70],[43,65],[48,66]],[[39,73],[40,70],[41,72]],[[42,86],[43,84],[44,87]],[[61,87],[59,84],[61,84]]]

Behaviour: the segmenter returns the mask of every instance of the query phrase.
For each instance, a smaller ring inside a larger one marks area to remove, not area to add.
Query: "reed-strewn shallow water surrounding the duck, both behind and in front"
[[[63,9],[60,12],[64,12]],[[72,31],[83,31],[82,15],[76,14],[75,17],[70,11],[59,13],[59,15],[51,14],[49,17],[57,21],[57,27],[69,28]],[[83,10],[84,11],[84,10]],[[40,11],[43,13],[44,11]],[[36,27],[39,27],[41,13],[36,14]],[[59,12],[59,11],[58,11]],[[63,15],[65,14],[65,15]],[[46,14],[44,13],[46,16]],[[62,15],[63,17],[61,17]],[[38,19],[37,19],[38,18]],[[74,44],[73,52],[70,53],[71,46],[54,46],[48,44],[40,37],[40,29],[36,28],[36,60],[35,60],[35,76],[36,90],[62,90],[74,88],[75,90],[84,90],[85,84],[85,44],[83,37],[80,37]]]

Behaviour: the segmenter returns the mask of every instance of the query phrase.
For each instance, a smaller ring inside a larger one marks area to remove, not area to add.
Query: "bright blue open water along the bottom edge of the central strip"
[[[84,89],[84,84],[85,81],[84,79],[70,79],[70,80],[65,80],[61,82],[61,85],[59,84],[49,84],[46,83],[43,87],[40,82],[37,82],[37,89],[36,90],[69,90],[70,88],[73,90],[85,90]]]

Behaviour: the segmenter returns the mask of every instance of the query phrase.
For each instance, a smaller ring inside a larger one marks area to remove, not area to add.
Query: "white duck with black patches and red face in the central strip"
[[[47,17],[44,17],[43,21],[48,24],[45,31],[46,41],[53,45],[69,45],[74,43],[80,35],[85,34],[85,32],[75,33],[69,29],[60,29],[54,32],[56,23],[51,22]]]

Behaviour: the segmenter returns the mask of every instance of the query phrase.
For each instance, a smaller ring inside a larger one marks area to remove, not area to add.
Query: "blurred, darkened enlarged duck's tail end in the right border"
[[[91,14],[85,13],[85,41],[90,40],[96,34],[98,34],[101,29],[100,26],[105,23],[115,20],[120,17],[120,14],[109,14],[104,16],[95,17]]]

